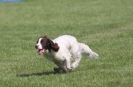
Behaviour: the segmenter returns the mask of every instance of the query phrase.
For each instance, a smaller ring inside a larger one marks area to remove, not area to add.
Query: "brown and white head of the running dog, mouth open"
[[[37,49],[38,54],[43,55],[47,50],[51,52],[51,50],[57,52],[59,50],[59,46],[57,43],[54,43],[52,40],[47,38],[46,36],[40,37],[37,40],[37,43],[35,45],[35,48]]]

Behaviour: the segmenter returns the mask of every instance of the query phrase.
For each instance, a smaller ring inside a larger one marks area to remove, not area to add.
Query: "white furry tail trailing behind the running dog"
[[[80,50],[83,54],[86,54],[89,56],[89,58],[91,59],[97,59],[99,57],[99,55],[92,51],[88,45],[84,44],[84,43],[79,43],[79,47],[80,47]]]

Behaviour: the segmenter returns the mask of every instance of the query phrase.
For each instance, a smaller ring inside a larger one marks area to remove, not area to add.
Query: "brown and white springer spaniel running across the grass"
[[[52,61],[58,66],[56,72],[68,72],[78,67],[82,54],[89,58],[98,58],[98,54],[92,51],[88,45],[80,43],[74,36],[62,35],[54,40],[48,37],[40,37],[35,45],[39,55],[52,55]]]

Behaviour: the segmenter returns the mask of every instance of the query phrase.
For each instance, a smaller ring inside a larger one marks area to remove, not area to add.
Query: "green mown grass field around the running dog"
[[[100,55],[67,74],[38,56],[39,36],[70,34]],[[0,3],[0,87],[133,87],[133,0]]]

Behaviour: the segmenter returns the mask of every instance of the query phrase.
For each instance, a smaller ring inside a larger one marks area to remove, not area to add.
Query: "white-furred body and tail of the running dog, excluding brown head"
[[[63,35],[53,40],[59,46],[58,52],[52,51],[50,55],[54,56],[54,60],[61,62],[66,60],[59,67],[66,67],[67,70],[73,70],[78,67],[82,54],[87,54],[89,58],[97,58],[98,54],[92,51],[88,45],[80,43],[77,39],[70,35]]]

